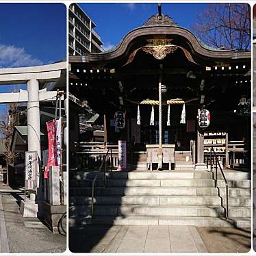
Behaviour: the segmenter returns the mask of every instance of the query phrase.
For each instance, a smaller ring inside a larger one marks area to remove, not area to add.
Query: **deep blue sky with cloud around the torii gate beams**
[[[0,68],[36,66],[66,58],[66,6],[0,3]],[[0,86],[12,92],[26,86]],[[8,108],[0,104],[1,112]]]

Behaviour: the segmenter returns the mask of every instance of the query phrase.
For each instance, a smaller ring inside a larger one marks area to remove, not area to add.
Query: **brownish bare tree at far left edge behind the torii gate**
[[[6,161],[7,179],[6,185],[9,185],[9,165],[14,164],[14,160],[18,157],[18,153],[12,152],[12,136],[14,127],[18,125],[18,105],[17,103],[10,103],[9,110],[2,114],[1,133],[5,140],[5,152],[3,153]]]

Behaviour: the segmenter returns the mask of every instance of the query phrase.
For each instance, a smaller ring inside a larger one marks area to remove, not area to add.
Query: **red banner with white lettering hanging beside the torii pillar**
[[[47,123],[48,132],[48,162],[44,170],[44,179],[49,178],[50,166],[57,166],[56,157],[56,121]]]

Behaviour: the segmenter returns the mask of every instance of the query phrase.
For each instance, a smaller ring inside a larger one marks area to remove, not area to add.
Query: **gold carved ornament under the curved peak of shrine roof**
[[[175,52],[178,47],[172,44],[172,39],[167,38],[154,38],[148,39],[145,47],[142,47],[142,51],[152,54],[155,59],[163,60],[167,54]]]

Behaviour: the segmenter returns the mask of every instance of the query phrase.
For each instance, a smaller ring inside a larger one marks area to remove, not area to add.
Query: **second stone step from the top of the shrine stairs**
[[[69,181],[71,187],[90,187],[92,180],[72,179]],[[99,180],[96,186],[103,186],[104,181]],[[107,179],[107,187],[214,187],[213,179]],[[225,183],[224,183],[225,185]]]

